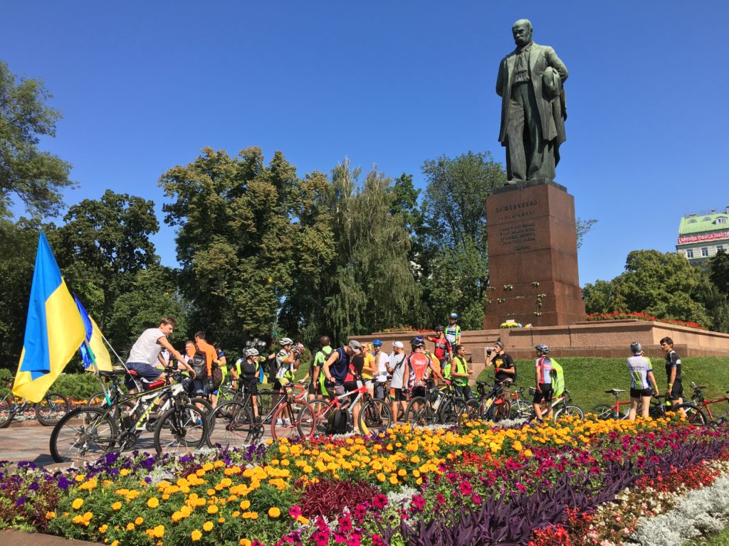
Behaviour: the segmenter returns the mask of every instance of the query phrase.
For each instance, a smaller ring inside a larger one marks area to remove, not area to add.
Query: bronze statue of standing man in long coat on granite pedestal
[[[496,93],[502,98],[499,142],[506,146],[510,183],[554,180],[559,145],[565,141],[564,84],[567,68],[549,46],[531,41],[529,20],[512,26],[516,49],[502,59]]]

